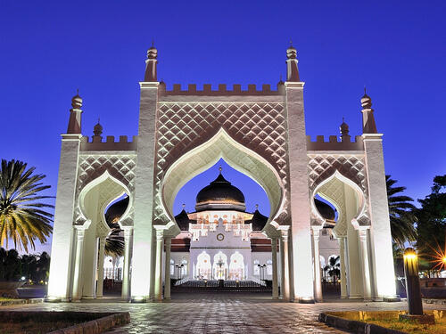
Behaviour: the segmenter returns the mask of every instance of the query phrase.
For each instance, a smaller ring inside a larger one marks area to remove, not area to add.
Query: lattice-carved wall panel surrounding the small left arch
[[[97,177],[107,171],[112,177],[123,183],[133,195],[135,192],[135,154],[82,154],[78,163],[78,184],[76,191],[75,224],[84,224],[85,218],[80,213],[78,196],[80,191]],[[117,183],[114,183],[117,184]],[[107,191],[105,191],[107,192]],[[107,193],[101,194],[107,197]],[[133,224],[134,208],[130,208],[127,219],[121,221],[123,225]]]

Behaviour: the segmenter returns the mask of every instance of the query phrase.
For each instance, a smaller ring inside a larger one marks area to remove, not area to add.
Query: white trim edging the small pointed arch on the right
[[[320,213],[318,212],[318,208],[316,208],[316,202],[314,200],[315,196],[318,194],[320,197],[322,197],[324,200],[328,200],[330,203],[332,203],[337,212],[338,212],[338,221],[342,220],[342,215],[344,215],[343,210],[341,210],[338,206],[338,203],[335,203],[334,200],[327,198],[326,196],[324,196],[323,193],[319,193],[319,189],[324,186],[326,183],[330,183],[332,182],[334,179],[339,180],[342,183],[345,183],[347,185],[349,185],[351,187],[351,189],[353,191],[355,191],[356,193],[356,198],[358,200],[358,212],[356,214],[356,216],[351,220],[351,224],[353,224],[353,226],[355,226],[355,228],[357,228],[357,222],[358,219],[361,216],[365,215],[366,212],[366,198],[364,196],[364,192],[359,188],[359,185],[354,183],[353,181],[351,181],[351,179],[349,179],[348,177],[344,176],[343,174],[341,174],[337,169],[335,170],[335,172],[327,177],[324,181],[322,181],[321,183],[318,184],[318,186],[314,189],[314,191],[311,193],[311,211],[312,213],[318,218],[319,222],[323,222],[325,223],[326,219],[323,216],[320,216]]]

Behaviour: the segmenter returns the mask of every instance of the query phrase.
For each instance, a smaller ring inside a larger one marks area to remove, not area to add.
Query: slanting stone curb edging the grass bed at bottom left
[[[81,322],[61,330],[54,330],[49,334],[99,334],[128,322],[130,322],[130,314],[121,312],[119,314],[107,315],[91,322]]]

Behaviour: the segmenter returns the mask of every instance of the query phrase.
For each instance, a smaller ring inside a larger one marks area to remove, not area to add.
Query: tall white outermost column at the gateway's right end
[[[368,179],[371,258],[377,297],[395,297],[392,235],[385,185],[382,134],[362,134]]]

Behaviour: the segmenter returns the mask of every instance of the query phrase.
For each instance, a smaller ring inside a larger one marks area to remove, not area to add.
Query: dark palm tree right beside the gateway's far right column
[[[391,178],[391,175],[385,175],[392,240],[398,247],[403,248],[406,241],[417,240],[417,231],[414,227],[417,217],[414,215],[416,208],[410,203],[413,199],[400,194],[406,190],[406,187],[394,187],[393,184],[397,182]]]

